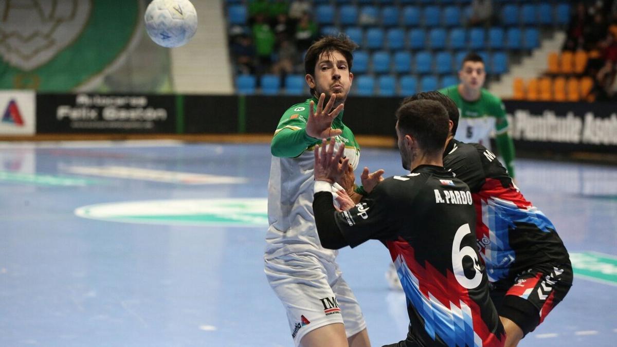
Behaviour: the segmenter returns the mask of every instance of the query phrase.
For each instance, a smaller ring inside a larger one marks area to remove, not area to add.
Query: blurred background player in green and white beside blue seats
[[[508,134],[505,107],[497,96],[482,88],[486,78],[482,57],[475,53],[467,54],[458,72],[458,78],[460,78],[458,85],[439,90],[458,106],[460,121],[456,140],[480,143],[491,149],[490,136],[495,132],[497,151],[508,169],[508,174],[514,178],[514,144]]]

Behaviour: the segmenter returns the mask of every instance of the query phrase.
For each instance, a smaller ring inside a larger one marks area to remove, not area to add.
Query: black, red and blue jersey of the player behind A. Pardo
[[[511,282],[531,267],[569,264],[550,220],[527,201],[495,154],[478,143],[451,140],[444,167],[471,189],[476,238],[491,282]]]

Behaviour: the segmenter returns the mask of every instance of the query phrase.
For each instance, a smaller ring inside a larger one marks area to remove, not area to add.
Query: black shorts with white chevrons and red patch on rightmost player
[[[563,300],[572,278],[569,263],[534,267],[513,281],[491,283],[491,299],[499,316],[515,322],[527,335]]]

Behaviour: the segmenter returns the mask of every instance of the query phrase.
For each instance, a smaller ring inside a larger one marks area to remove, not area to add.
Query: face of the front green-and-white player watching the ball
[[[351,88],[354,74],[349,72],[347,59],[339,51],[323,52],[315,64],[315,76],[307,75],[307,83],[317,95],[326,94],[326,100],[336,94],[336,102],[345,101]]]

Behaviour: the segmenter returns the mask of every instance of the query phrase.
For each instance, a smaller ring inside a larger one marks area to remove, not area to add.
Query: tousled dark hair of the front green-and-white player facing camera
[[[347,60],[347,69],[351,72],[351,67],[354,63],[354,54],[352,52],[356,48],[358,48],[358,45],[343,33],[337,36],[324,36],[313,42],[307,50],[307,54],[304,56],[304,72],[315,77],[315,65],[321,54],[323,52],[330,54],[334,51],[341,52]],[[311,88],[310,94],[315,94],[313,88]]]

